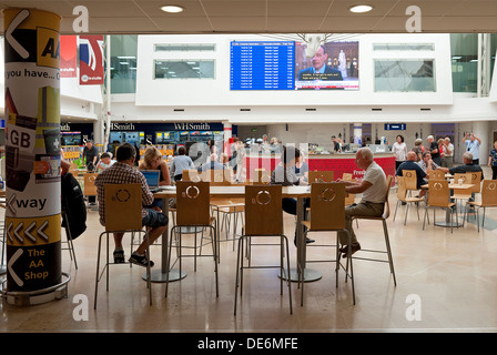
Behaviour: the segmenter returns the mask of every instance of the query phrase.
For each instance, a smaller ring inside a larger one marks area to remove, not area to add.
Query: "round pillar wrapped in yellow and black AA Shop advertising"
[[[61,281],[60,17],[6,9],[8,292]]]

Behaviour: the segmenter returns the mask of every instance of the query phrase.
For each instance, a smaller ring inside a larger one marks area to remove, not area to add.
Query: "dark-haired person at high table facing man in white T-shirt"
[[[301,151],[295,146],[283,146],[283,153],[280,164],[273,171],[271,175],[271,184],[272,185],[283,185],[283,186],[292,186],[292,185],[305,185],[305,178],[298,178],[295,175],[295,163],[301,158]],[[304,211],[311,205],[311,199],[304,199]],[[284,197],[282,200],[282,209],[286,213],[296,215],[297,214],[297,200]],[[297,240],[297,225],[295,225],[295,239],[294,244],[296,245]],[[313,243],[314,240],[307,239],[306,243]]]

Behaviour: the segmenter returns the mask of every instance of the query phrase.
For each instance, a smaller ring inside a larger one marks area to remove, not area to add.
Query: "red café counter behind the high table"
[[[246,179],[253,180],[256,169],[273,171],[280,163],[280,154],[254,154],[244,156],[243,166]],[[386,175],[395,176],[395,155],[393,153],[375,153],[375,162],[383,168]],[[352,173],[353,179],[362,179],[364,171],[355,164],[355,153],[310,154],[305,162],[311,171],[334,171],[334,179],[342,179],[343,173]]]

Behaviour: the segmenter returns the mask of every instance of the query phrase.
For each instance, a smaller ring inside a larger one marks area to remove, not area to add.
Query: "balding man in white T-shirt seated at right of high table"
[[[365,170],[361,182],[337,180],[345,183],[345,191],[349,193],[362,193],[363,199],[357,204],[345,206],[345,227],[351,233],[352,254],[361,250],[361,244],[352,229],[352,217],[355,215],[382,216],[385,205],[385,192],[389,186],[386,185],[386,176],[382,166],[373,160],[373,152],[368,148],[362,148],[355,155],[357,168]],[[338,232],[341,253],[347,257],[348,237],[345,232]]]

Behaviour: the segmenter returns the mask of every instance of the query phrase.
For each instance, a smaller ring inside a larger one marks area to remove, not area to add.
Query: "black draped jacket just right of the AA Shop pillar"
[[[75,240],[87,230],[87,206],[84,204],[83,191],[80,183],[71,173],[61,176],[62,190],[62,227],[71,232],[71,239]]]

